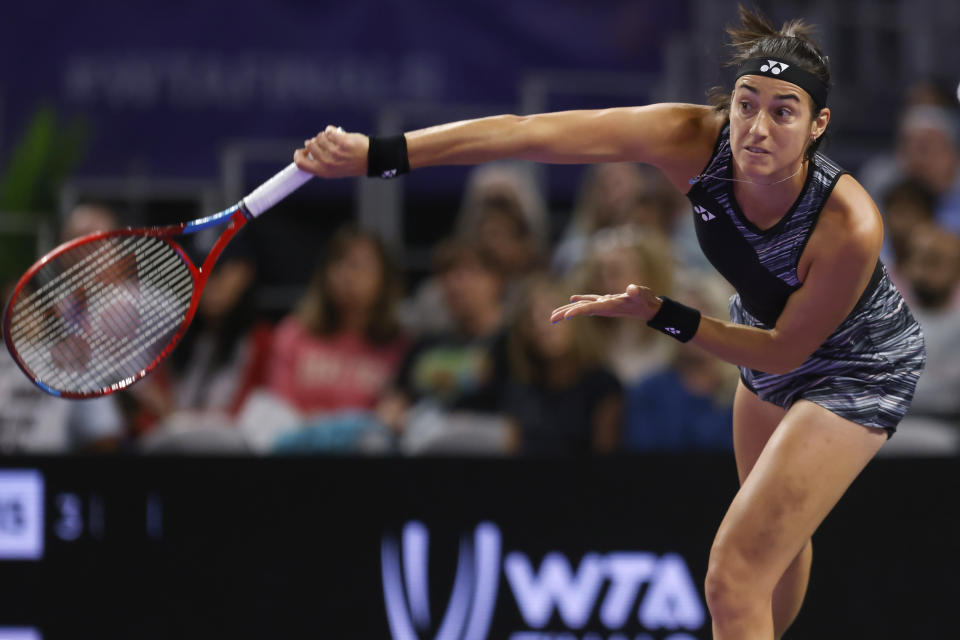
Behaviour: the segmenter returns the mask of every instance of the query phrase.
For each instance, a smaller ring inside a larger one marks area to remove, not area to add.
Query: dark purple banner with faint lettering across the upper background
[[[211,177],[239,138],[385,105],[518,105],[539,69],[651,71],[685,3],[29,2],[0,24],[0,158],[41,105],[88,132],[80,173]]]

